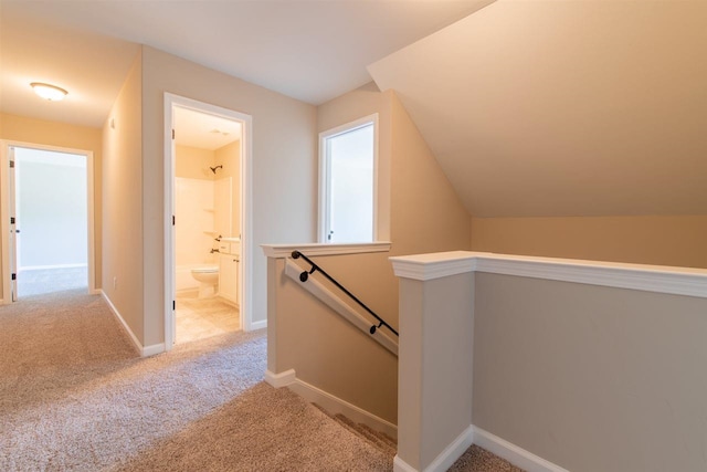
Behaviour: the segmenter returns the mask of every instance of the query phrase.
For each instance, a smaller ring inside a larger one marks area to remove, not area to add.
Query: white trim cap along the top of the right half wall
[[[466,272],[517,275],[707,298],[707,270],[453,251],[390,258],[397,276],[429,281]]]

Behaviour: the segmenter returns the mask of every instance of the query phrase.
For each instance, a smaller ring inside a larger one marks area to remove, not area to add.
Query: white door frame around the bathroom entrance
[[[217,105],[199,102],[192,98],[165,93],[165,349],[170,350],[175,346],[175,270],[176,270],[176,245],[175,227],[172,217],[175,216],[175,140],[173,108],[187,108],[208,115],[215,115],[222,118],[240,122],[243,127],[241,138],[241,181],[240,181],[240,203],[241,203],[241,273],[239,283],[241,284],[240,316],[243,331],[255,329],[253,326],[253,166],[252,166],[252,143],[253,143],[253,117],[241,112],[223,108]]]

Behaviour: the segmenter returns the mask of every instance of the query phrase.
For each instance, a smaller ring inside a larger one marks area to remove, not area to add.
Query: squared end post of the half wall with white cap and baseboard
[[[445,471],[472,444],[474,259],[391,258],[400,277],[394,471]]]

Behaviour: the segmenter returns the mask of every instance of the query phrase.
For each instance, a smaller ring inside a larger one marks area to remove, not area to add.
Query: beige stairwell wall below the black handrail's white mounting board
[[[398,358],[285,275],[284,259],[268,264],[278,308],[267,326],[268,370],[295,369],[298,379],[394,424]]]

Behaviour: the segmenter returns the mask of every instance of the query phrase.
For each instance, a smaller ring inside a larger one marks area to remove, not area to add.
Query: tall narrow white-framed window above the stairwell
[[[378,115],[319,135],[319,241],[376,240]]]

